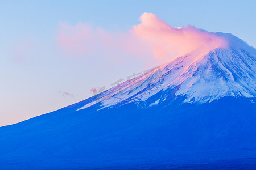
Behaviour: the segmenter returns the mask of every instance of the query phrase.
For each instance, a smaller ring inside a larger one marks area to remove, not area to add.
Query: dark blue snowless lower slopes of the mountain
[[[0,128],[0,169],[256,168],[252,100],[74,104]]]

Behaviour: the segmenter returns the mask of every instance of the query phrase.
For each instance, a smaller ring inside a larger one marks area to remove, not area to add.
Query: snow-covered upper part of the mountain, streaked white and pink
[[[175,91],[175,98],[184,96],[184,102],[189,103],[211,102],[224,96],[255,97],[256,50],[233,35],[219,34],[229,41],[227,48],[217,48],[203,56],[198,49],[178,57],[102,92],[80,109],[96,103],[105,108],[146,101],[170,89]],[[162,97],[160,101],[165,100]]]

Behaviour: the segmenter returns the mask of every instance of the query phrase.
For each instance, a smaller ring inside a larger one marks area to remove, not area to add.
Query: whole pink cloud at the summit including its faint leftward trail
[[[122,51],[135,58],[154,56],[165,60],[193,50],[204,54],[226,45],[226,41],[215,33],[191,25],[171,27],[155,14],[144,13],[139,20],[141,23],[127,32],[107,32],[85,23],[60,23],[57,41],[65,53],[75,56],[89,56],[104,50],[109,53]]]

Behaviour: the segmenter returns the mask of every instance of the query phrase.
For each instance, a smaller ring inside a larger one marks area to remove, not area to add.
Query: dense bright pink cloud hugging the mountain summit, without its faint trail
[[[181,56],[197,49],[201,53],[208,53],[226,45],[226,41],[214,33],[191,25],[171,27],[155,14],[144,13],[139,20],[141,24],[135,25],[131,33],[145,40],[156,58]]]

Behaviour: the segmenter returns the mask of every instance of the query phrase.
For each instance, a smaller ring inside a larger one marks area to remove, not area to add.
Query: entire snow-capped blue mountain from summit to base
[[[0,168],[256,168],[256,49],[216,35],[229,45],[1,127]]]

